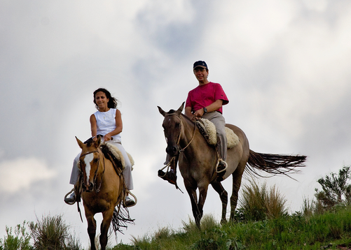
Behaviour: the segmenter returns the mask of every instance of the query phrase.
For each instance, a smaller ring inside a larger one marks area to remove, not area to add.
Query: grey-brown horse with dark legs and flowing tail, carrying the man
[[[186,191],[190,196],[191,207],[196,225],[200,228],[200,220],[203,213],[203,205],[207,196],[209,184],[219,193],[222,203],[221,223],[226,222],[226,207],[228,203],[228,193],[223,189],[221,182],[218,182],[216,163],[216,148],[207,143],[200,134],[194,122],[181,114],[184,103],[178,110],[165,112],[158,107],[163,120],[165,138],[167,139],[167,154],[179,157],[179,170],[184,179]],[[249,149],[249,141],[245,133],[237,126],[226,124],[234,131],[240,142],[235,147],[228,149],[226,162],[228,167],[221,172],[223,179],[233,176],[233,193],[230,197],[230,220],[234,219],[235,207],[238,203],[238,191],[240,189],[242,174],[245,167],[247,170],[254,168],[269,172],[273,175],[296,172],[295,167],[303,166],[306,156],[289,156],[280,154],[261,154]],[[253,167],[253,168],[252,168]],[[256,173],[257,174],[257,173]],[[199,189],[199,198],[196,190]]]

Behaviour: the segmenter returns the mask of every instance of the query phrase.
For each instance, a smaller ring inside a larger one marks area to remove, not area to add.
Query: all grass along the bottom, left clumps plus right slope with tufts
[[[238,250],[238,249],[345,249],[351,247],[351,206],[338,204],[326,211],[313,200],[305,199],[301,212],[287,213],[285,199],[275,186],[245,186],[235,221],[221,225],[205,215],[201,229],[189,217],[175,230],[133,237],[132,244],[117,244],[110,250]],[[27,233],[26,225],[29,228]],[[69,233],[62,216],[43,216],[41,220],[6,227],[0,250],[80,250],[81,244]],[[13,234],[14,233],[14,234]],[[30,242],[33,242],[31,244]]]

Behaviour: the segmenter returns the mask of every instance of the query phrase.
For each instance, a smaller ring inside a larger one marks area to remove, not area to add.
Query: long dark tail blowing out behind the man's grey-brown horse
[[[272,175],[287,175],[299,172],[298,167],[305,167],[303,164],[307,156],[303,155],[283,155],[283,154],[262,154],[250,149],[247,166],[255,175],[259,175],[258,170],[263,170]],[[259,175],[262,177],[262,175]],[[290,176],[289,176],[290,177]],[[294,179],[294,178],[292,178]]]

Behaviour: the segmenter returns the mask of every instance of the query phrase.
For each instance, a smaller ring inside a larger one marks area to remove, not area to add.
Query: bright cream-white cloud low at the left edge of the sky
[[[27,189],[41,180],[55,177],[55,170],[50,170],[45,161],[41,159],[20,158],[0,163],[0,191],[15,193]]]

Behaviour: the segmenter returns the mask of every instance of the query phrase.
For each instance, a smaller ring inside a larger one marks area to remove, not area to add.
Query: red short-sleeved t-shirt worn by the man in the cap
[[[198,87],[195,87],[195,89],[189,91],[185,106],[191,107],[191,110],[200,110],[217,100],[223,100],[223,105],[229,103],[221,84],[209,82],[205,85],[199,85]],[[216,111],[222,114],[222,108],[219,108]]]

